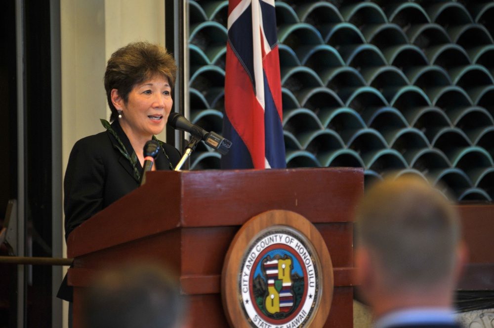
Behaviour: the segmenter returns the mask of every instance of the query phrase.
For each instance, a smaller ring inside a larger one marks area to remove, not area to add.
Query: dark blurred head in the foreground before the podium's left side
[[[184,312],[178,280],[161,266],[142,263],[103,271],[82,303],[86,328],[177,328]]]

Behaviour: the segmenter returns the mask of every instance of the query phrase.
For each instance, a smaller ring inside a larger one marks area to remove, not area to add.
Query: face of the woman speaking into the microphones
[[[135,85],[128,94],[126,104],[116,89],[112,90],[112,95],[114,92],[117,95],[115,107],[122,109],[120,124],[129,139],[150,140],[163,131],[173,105],[171,87],[166,77],[156,75]]]

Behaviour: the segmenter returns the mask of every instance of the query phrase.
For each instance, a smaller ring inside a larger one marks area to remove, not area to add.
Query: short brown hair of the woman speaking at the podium
[[[118,112],[112,103],[112,90],[117,89],[126,104],[132,88],[155,75],[168,79],[171,89],[175,84],[175,59],[166,49],[149,42],[132,42],[115,51],[108,60],[105,72],[105,90],[112,111],[110,121]]]

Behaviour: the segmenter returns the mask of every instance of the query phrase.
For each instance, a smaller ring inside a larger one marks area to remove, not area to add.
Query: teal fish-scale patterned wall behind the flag
[[[228,1],[190,1],[191,120],[221,134]],[[287,166],[494,199],[494,2],[276,1]],[[191,169],[219,169],[204,144]]]

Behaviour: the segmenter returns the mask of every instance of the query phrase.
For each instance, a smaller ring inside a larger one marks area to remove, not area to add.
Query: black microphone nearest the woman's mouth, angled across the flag
[[[214,148],[222,155],[225,155],[232,146],[230,140],[223,138],[215,132],[205,131],[200,126],[189,122],[184,115],[177,112],[172,112],[168,115],[168,124],[176,130],[188,132],[192,136],[203,140],[207,146]]]

